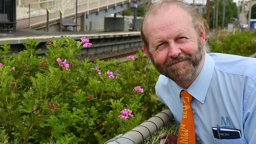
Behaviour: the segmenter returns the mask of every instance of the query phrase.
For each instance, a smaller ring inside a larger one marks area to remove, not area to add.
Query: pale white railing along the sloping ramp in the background
[[[61,9],[63,14],[65,14],[66,10],[74,9],[76,7],[76,0],[65,0],[65,2],[63,2],[63,0],[35,0],[37,2],[26,4],[22,4],[22,1],[17,0],[17,20],[28,18],[29,13],[30,17],[46,15],[46,8],[50,10],[50,13],[56,13]],[[77,3],[78,7],[87,6],[85,12],[89,13],[89,10],[91,9],[99,10],[102,7],[108,8],[109,5],[116,6],[117,3],[122,2],[123,4],[125,1],[131,2],[131,0],[77,0]]]

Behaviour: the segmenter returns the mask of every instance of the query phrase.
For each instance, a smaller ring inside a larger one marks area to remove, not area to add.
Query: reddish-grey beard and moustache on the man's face
[[[155,63],[152,54],[150,54],[150,58],[160,74],[175,82],[185,83],[196,76],[199,66],[202,63],[203,55],[203,45],[198,41],[198,48],[195,54],[180,54],[178,57],[166,61],[164,67]],[[173,65],[179,61],[182,62],[179,63],[178,66]]]

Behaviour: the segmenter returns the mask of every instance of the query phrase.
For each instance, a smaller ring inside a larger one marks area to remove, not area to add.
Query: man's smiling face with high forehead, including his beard
[[[186,11],[174,4],[163,6],[147,17],[144,28],[149,53],[145,44],[143,50],[161,74],[180,83],[197,76],[204,37],[195,31]]]

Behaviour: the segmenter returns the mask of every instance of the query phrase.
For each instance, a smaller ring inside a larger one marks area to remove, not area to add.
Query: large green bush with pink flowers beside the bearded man
[[[47,58],[34,40],[9,57],[10,46],[0,46],[0,143],[104,143],[163,109],[153,87],[159,73],[141,51],[123,63],[78,61],[92,46],[81,40],[53,38]]]

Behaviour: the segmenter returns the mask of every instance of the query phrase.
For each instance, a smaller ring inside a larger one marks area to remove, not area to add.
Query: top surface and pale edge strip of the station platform
[[[106,31],[106,32],[90,32],[90,31],[56,31],[56,32],[45,32],[37,31],[31,29],[7,31],[0,30],[0,45],[3,42],[8,44],[23,44],[26,39],[41,40],[42,42],[47,42],[48,40],[55,37],[56,39],[61,38],[61,36],[70,36],[72,39],[79,40],[81,37],[86,37],[89,39],[100,39],[100,38],[112,38],[112,37],[130,37],[139,36],[140,31]]]

